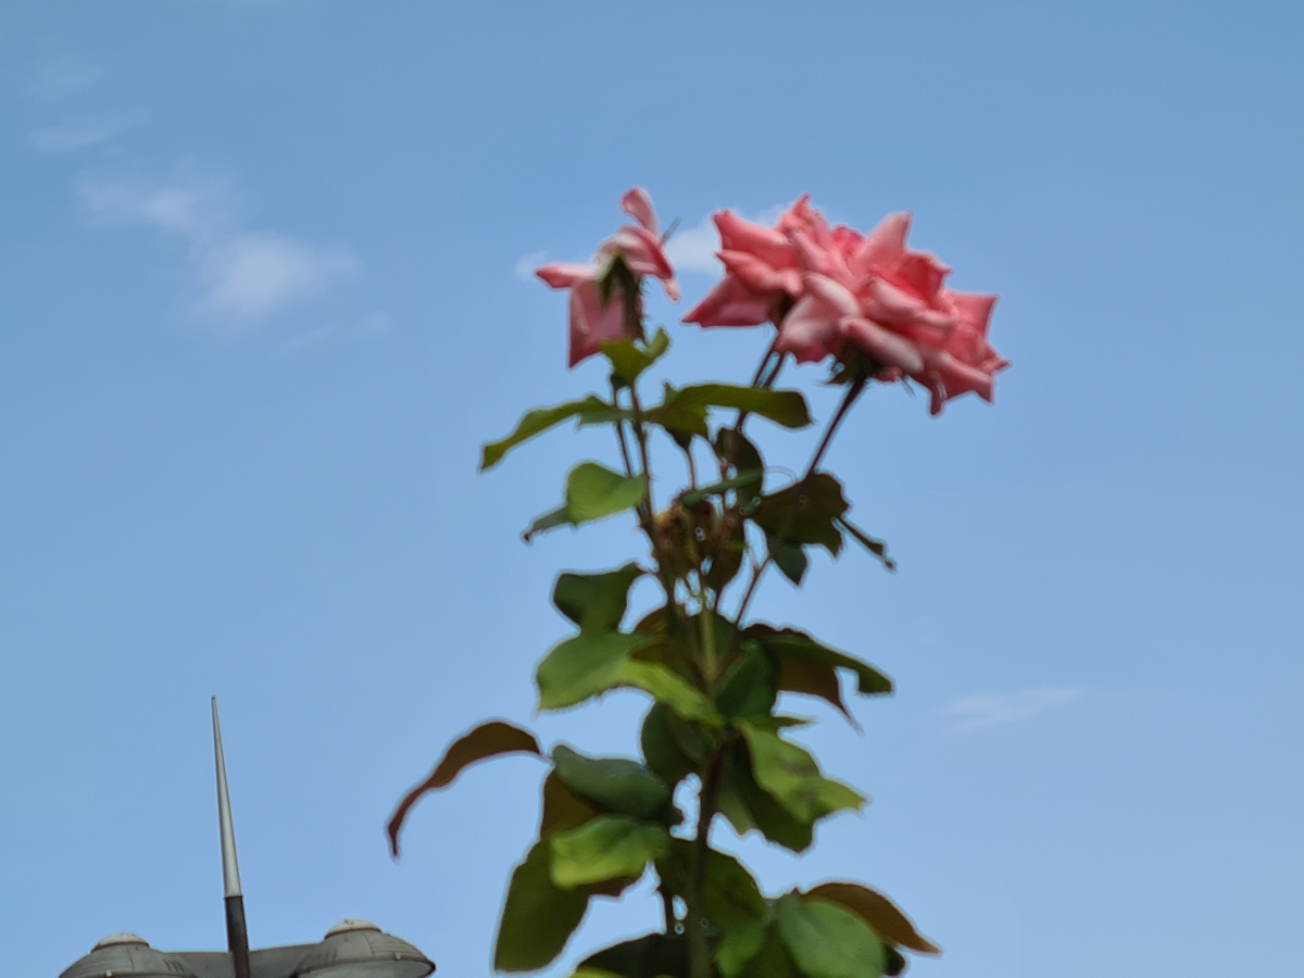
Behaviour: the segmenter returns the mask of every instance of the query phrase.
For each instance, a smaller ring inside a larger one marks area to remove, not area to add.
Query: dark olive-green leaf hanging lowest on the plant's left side
[[[557,887],[550,865],[552,845],[542,841],[511,874],[494,941],[493,965],[499,971],[546,968],[584,919],[589,895]]]

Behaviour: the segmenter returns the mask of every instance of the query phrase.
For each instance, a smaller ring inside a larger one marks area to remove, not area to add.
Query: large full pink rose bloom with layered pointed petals
[[[850,343],[870,356],[876,379],[927,387],[934,415],[969,391],[991,400],[995,374],[1009,365],[987,343],[996,297],[945,288],[951,269],[906,246],[909,214],[862,235],[831,228],[802,197],[773,228],[730,211],[715,222],[725,276],[685,322],[775,322],[775,348],[798,363],[840,357]]]

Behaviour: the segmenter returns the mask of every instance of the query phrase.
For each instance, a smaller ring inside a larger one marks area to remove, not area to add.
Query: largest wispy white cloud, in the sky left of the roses
[[[253,329],[361,274],[347,250],[245,230],[235,194],[218,183],[87,181],[80,190],[95,223],[154,227],[179,239],[196,273],[196,314],[228,327]]]

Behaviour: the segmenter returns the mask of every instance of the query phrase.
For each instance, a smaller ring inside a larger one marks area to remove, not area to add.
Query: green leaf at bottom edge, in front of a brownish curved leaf
[[[775,925],[806,978],[879,978],[883,974],[883,941],[846,908],[789,895],[775,905]]]

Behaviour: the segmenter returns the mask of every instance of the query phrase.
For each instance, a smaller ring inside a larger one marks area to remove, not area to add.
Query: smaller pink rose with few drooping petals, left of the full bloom
[[[535,274],[553,288],[570,289],[570,366],[575,366],[601,351],[601,343],[630,335],[627,296],[619,283],[613,283],[606,303],[602,303],[599,280],[605,275],[612,259],[619,257],[639,279],[660,279],[665,293],[678,301],[679,284],[674,269],[665,257],[657,236],[656,213],[647,192],[635,186],[621,198],[621,210],[636,224],[626,224],[602,243],[592,265],[553,263],[537,269]],[[642,296],[634,296],[642,314]]]

